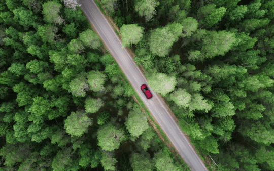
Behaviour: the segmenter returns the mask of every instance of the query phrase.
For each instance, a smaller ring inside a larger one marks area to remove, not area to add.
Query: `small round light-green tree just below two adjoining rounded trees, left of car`
[[[91,97],[88,97],[85,100],[85,108],[87,113],[96,113],[99,111],[99,109],[104,106],[105,103],[100,98],[93,99]]]

